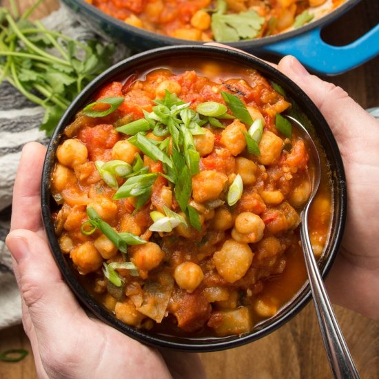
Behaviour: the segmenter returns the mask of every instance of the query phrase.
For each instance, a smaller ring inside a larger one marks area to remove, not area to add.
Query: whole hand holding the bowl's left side
[[[6,244],[39,378],[203,378],[196,354],[158,351],[85,314],[46,242],[40,185],[45,147],[23,148]]]

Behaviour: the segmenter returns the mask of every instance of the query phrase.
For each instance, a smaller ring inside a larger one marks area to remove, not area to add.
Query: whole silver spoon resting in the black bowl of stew
[[[311,158],[314,162],[314,180],[311,196],[309,197],[305,208],[300,214],[300,238],[301,244],[303,245],[305,265],[307,267],[309,285],[311,287],[311,293],[314,299],[318,324],[320,325],[322,339],[324,340],[331,371],[334,374],[334,378],[338,379],[360,378],[358,371],[354,365],[353,359],[351,358],[345,339],[342,336],[342,331],[336,320],[333,308],[331,307],[327,291],[320,275],[320,271],[318,270],[316,259],[314,258],[311,240],[309,239],[308,211],[309,207],[311,206],[311,202],[316,195],[318,186],[320,185],[320,156],[318,154],[316,145],[314,144],[314,141],[309,135],[307,129],[293,117],[287,115],[285,115],[285,117],[298,126],[298,129],[301,132],[301,136],[307,144],[307,147],[311,153]]]

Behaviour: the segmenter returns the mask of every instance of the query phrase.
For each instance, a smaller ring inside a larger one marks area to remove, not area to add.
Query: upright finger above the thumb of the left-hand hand
[[[11,229],[37,232],[41,221],[41,176],[46,149],[40,143],[27,143],[22,150],[13,189]]]

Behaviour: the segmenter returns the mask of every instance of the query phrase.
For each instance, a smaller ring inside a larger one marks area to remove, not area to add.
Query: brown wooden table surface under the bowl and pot
[[[18,0],[21,7],[28,7],[33,2]],[[45,0],[36,17],[48,14],[54,8],[57,8],[57,0]],[[362,0],[353,12],[329,25],[323,34],[329,43],[349,43],[376,25],[378,20],[379,1]],[[327,80],[347,90],[362,107],[379,106],[379,58]],[[362,125],[362,129],[364,127]],[[335,307],[335,310],[361,378],[379,378],[378,322],[341,307]],[[21,326],[0,331],[0,351],[12,348],[31,352]],[[201,354],[201,359],[209,379],[331,378],[311,303],[269,336],[229,351]],[[0,379],[32,378],[37,378],[32,354],[19,363],[0,362]]]

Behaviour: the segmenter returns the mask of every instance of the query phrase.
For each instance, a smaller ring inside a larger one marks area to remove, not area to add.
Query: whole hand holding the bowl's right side
[[[336,138],[347,178],[347,223],[327,279],[334,303],[379,318],[379,122],[347,92],[311,75],[294,57],[278,70],[302,88]]]

